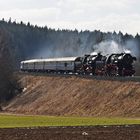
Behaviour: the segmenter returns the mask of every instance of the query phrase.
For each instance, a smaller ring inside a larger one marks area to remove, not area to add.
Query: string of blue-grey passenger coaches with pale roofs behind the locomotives
[[[22,61],[20,69],[28,72],[74,72],[78,64],[81,64],[80,57],[32,59]]]

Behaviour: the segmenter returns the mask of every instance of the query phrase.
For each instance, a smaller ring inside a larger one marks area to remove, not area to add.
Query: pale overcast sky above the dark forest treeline
[[[0,17],[60,29],[140,33],[140,0],[0,0]]]

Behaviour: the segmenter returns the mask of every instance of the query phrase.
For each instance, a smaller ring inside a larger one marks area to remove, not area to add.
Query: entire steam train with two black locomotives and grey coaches
[[[26,72],[73,73],[100,76],[133,76],[136,57],[130,53],[84,55],[78,57],[32,59],[21,61]]]

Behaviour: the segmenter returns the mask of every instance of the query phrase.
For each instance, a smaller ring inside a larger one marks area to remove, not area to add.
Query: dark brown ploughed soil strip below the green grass
[[[140,140],[140,125],[9,128],[0,140]]]

